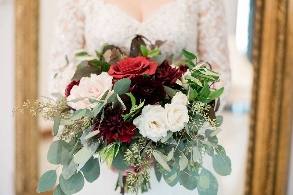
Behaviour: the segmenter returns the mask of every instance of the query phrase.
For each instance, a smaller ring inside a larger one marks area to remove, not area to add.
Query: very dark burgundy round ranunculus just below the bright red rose
[[[136,83],[131,93],[136,100],[145,100],[144,105],[155,105],[166,98],[164,86],[154,79],[144,79]]]

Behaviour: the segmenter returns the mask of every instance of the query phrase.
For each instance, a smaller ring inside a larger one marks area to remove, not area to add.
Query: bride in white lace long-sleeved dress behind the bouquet
[[[216,88],[225,87],[221,99],[223,107],[229,94],[230,68],[222,0],[60,0],[50,60],[51,78],[55,73],[57,76],[50,90],[64,93],[60,83],[62,72],[68,66],[65,55],[69,62],[74,62],[77,49],[84,48],[94,54],[104,43],[128,47],[136,34],[152,42],[167,40],[160,49],[166,55],[174,54],[175,60],[182,57],[178,55],[182,48],[207,60],[213,70],[221,73]],[[118,176],[103,170],[105,165],[101,169],[103,177],[85,184],[78,194],[94,191],[119,194],[113,192],[113,180]],[[164,181],[157,183],[155,180],[152,173],[152,189],[145,194],[197,193],[179,184],[171,188]]]

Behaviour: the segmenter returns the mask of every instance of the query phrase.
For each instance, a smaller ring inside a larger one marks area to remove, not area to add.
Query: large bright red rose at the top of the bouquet
[[[108,73],[114,79],[120,80],[123,78],[138,81],[143,78],[143,75],[153,75],[157,69],[157,62],[150,62],[145,57],[139,56],[136,58],[126,58],[117,65],[111,65]]]

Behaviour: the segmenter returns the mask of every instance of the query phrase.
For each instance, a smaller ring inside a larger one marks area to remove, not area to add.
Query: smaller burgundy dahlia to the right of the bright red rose
[[[165,60],[155,73],[156,80],[160,81],[163,85],[170,86],[176,82],[182,76],[183,72],[178,69],[172,68]]]

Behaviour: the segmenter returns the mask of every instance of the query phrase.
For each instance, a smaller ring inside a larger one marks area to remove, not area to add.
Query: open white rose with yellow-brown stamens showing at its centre
[[[163,119],[165,109],[161,105],[147,105],[141,115],[133,120],[133,124],[139,129],[143,137],[157,142],[167,136],[167,127]]]

